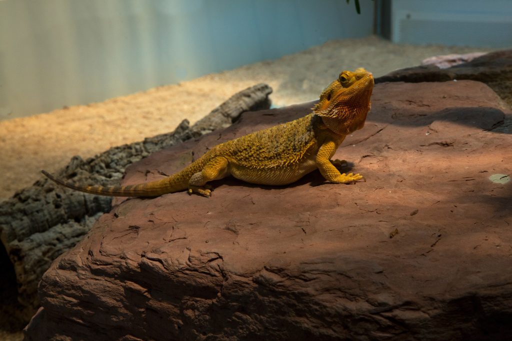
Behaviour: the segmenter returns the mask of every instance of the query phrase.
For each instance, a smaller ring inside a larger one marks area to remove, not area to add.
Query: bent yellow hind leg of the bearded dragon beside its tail
[[[200,172],[195,173],[188,181],[188,194],[196,193],[205,197],[211,196],[213,190],[208,181],[222,179],[229,173],[229,162],[223,156],[212,158]]]

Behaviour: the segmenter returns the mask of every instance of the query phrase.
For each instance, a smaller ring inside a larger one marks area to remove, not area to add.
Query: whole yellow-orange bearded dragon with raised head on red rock
[[[335,165],[344,161],[330,159],[348,134],[365,125],[373,84],[365,69],[343,71],[309,115],[219,144],[180,172],[150,183],[79,186],[42,173],[59,185],[109,196],[156,197],[188,190],[209,197],[208,181],[228,175],[251,184],[288,185],[315,169],[331,183],[355,183],[364,180],[362,175],[342,174]]]

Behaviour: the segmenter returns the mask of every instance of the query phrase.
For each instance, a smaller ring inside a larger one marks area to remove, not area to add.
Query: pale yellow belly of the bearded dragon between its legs
[[[249,168],[230,164],[229,171],[237,179],[258,185],[288,185],[317,168],[314,157],[291,165],[271,168]]]

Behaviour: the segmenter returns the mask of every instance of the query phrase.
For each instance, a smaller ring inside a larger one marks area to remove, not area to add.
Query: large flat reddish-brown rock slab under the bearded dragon
[[[476,81],[378,84],[334,156],[366,182],[315,171],[286,187],[219,180],[209,199],[116,199],[43,276],[27,339],[504,339],[512,135],[499,103]],[[123,183],[311,106],[245,113]]]

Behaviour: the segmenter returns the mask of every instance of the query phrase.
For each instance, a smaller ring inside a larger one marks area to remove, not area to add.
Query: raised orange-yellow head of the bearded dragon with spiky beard
[[[339,134],[349,134],[365,125],[370,111],[373,75],[360,67],[343,71],[324,89],[313,108],[327,127]]]

